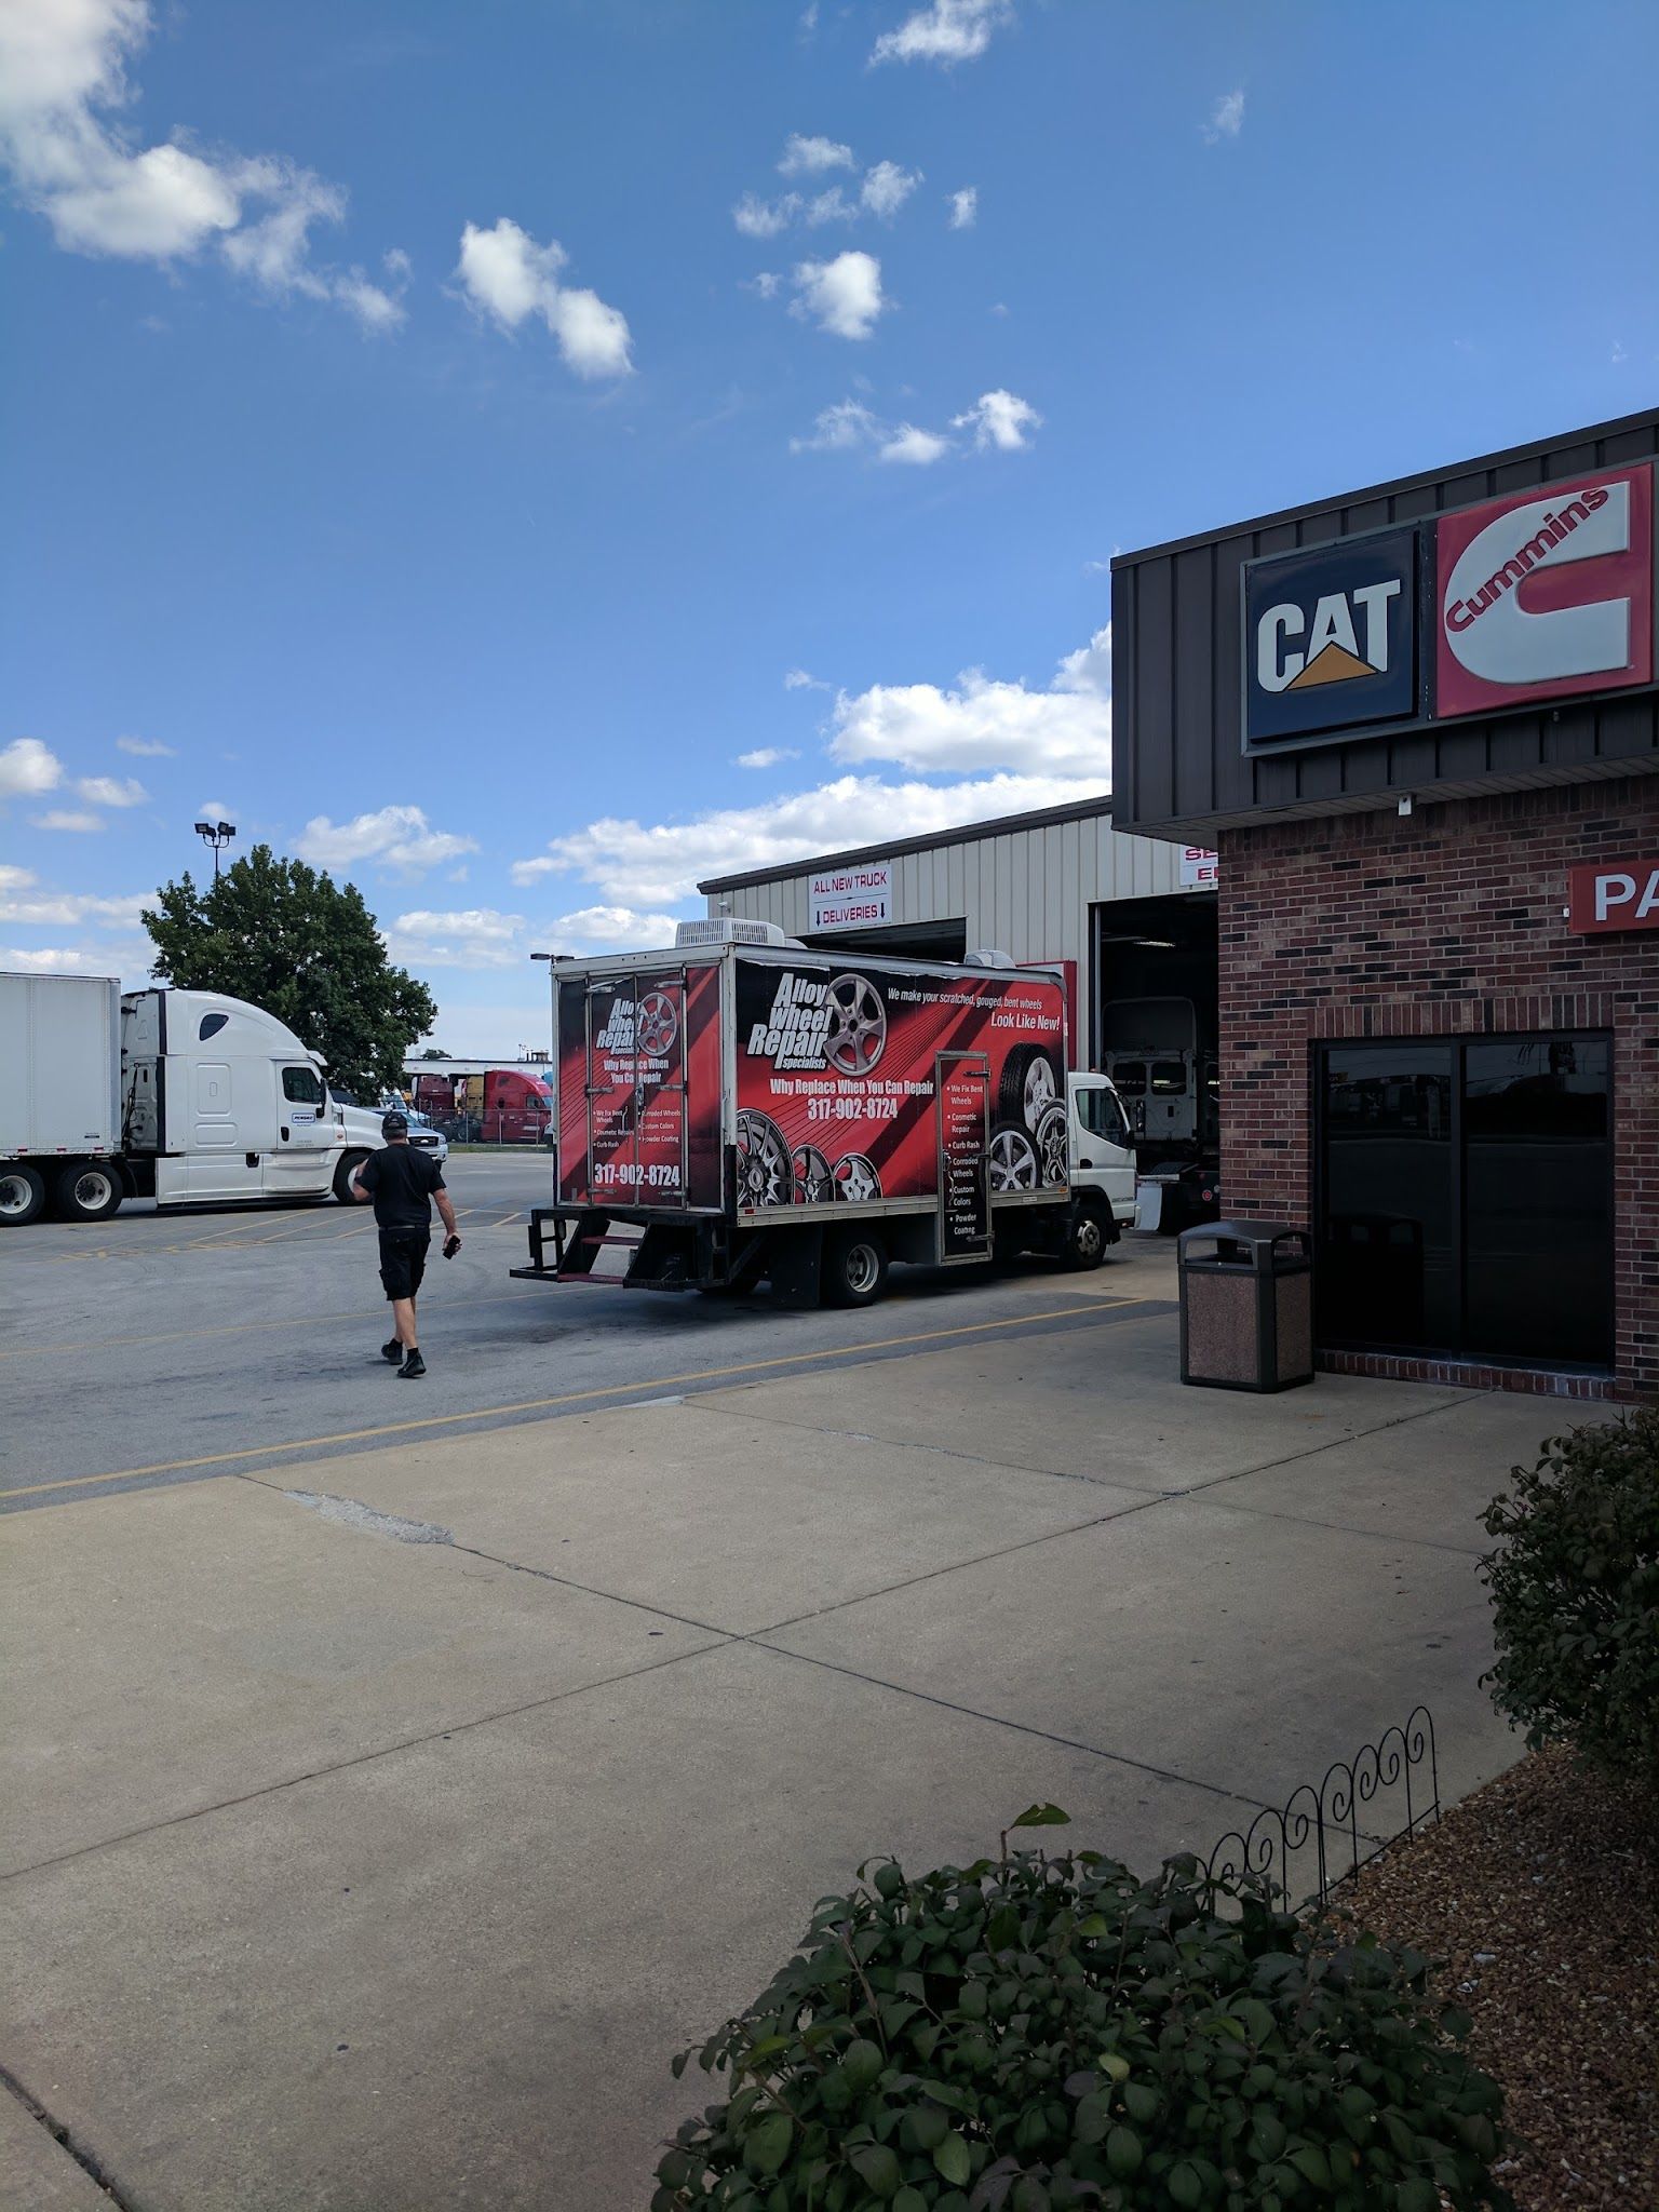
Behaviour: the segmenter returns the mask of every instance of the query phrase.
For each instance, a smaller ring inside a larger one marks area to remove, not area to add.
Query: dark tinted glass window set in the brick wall
[[[1582,1035],[1325,1046],[1321,1338],[1608,1365],[1610,1057]]]

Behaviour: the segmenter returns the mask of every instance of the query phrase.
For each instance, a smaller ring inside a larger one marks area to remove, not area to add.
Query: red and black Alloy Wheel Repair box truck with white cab
[[[681,922],[553,969],[557,1203],[515,1276],[867,1305],[889,1261],[1095,1265],[1133,1217],[1113,1086],[1066,1075],[1057,971]]]

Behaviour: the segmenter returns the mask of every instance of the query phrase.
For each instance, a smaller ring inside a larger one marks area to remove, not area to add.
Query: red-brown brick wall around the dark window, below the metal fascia
[[[1659,776],[1221,832],[1221,1192],[1310,1221],[1318,1037],[1610,1029],[1617,1391],[1659,1396],[1659,931],[1562,918],[1624,856],[1659,858]]]

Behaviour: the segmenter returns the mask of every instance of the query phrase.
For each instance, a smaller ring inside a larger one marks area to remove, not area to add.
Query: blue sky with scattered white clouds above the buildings
[[[7,0],[0,964],[223,807],[451,1051],[1108,787],[1115,549],[1646,407],[1659,11]]]

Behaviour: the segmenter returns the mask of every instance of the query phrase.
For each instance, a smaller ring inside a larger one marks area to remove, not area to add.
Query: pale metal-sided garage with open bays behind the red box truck
[[[712,876],[708,911],[805,945],[962,960],[998,947],[1066,971],[1071,1053],[1099,1064],[1106,998],[1192,995],[1214,1026],[1214,856],[1124,836],[1110,799]]]

